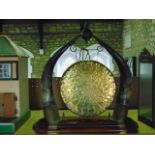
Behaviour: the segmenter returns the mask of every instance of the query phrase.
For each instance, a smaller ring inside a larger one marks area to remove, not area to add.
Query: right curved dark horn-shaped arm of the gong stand
[[[109,54],[113,57],[118,65],[120,71],[120,88],[117,97],[117,104],[113,113],[113,118],[118,122],[124,122],[127,117],[128,111],[129,87],[132,82],[131,72],[127,63],[118,52],[113,50],[108,44],[106,44],[96,36],[93,37],[109,52]]]

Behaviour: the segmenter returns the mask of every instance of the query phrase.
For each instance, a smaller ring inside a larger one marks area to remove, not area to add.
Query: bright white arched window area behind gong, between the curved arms
[[[99,51],[98,50],[99,46],[100,46],[99,44],[94,44],[87,47],[86,49],[89,51],[89,56],[87,55],[86,51],[81,51],[80,48],[77,48],[75,46],[74,48],[76,48],[76,52],[73,52],[70,48],[68,48],[57,61],[54,67],[53,76],[62,77],[63,73],[66,71],[66,69],[69,66],[71,66],[72,64],[82,59],[85,59],[85,60],[90,59],[90,60],[98,61],[104,64],[109,70],[113,72],[114,64],[112,62],[111,55],[105,49],[102,49],[102,51]]]

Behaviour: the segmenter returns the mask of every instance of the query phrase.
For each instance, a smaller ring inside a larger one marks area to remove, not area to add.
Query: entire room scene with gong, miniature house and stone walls
[[[154,19],[0,19],[0,134],[155,134]]]

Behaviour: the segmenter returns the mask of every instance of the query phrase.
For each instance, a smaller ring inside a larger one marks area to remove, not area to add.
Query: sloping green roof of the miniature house
[[[16,45],[6,35],[0,35],[0,56],[31,57],[30,52]]]

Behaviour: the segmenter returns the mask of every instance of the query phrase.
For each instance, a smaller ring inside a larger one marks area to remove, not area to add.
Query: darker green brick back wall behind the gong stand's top
[[[44,49],[45,54],[39,54],[39,35],[38,28],[35,24],[5,24],[3,25],[3,33],[7,34],[17,45],[28,49],[34,54],[32,59],[33,66],[33,78],[40,78],[43,68],[49,59],[51,53],[58,47],[64,45],[71,38],[79,33],[79,24],[65,23],[65,24],[44,24]],[[123,23],[118,22],[98,22],[90,25],[94,34],[115,50],[122,54],[122,30]],[[96,43],[94,40],[90,40],[88,45]],[[86,46],[85,43],[80,40],[76,44],[79,47]],[[87,46],[88,46],[87,45]]]

